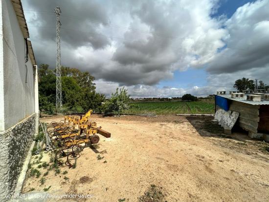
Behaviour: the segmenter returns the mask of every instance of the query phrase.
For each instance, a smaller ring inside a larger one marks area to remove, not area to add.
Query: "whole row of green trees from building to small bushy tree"
[[[116,89],[111,98],[95,91],[94,77],[77,68],[62,67],[62,101],[64,112],[122,113],[129,108],[130,95],[123,87]],[[55,113],[56,69],[41,64],[39,74],[39,108],[41,112]]]

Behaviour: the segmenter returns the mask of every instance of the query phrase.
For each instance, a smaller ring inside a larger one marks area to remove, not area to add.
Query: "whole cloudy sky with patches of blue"
[[[269,0],[22,0],[38,64],[89,71],[109,96],[180,97],[269,83]]]

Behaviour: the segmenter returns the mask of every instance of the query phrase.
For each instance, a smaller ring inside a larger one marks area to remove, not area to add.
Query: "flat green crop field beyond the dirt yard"
[[[135,102],[131,103],[129,110],[125,113],[156,113],[156,114],[213,114],[214,102]]]

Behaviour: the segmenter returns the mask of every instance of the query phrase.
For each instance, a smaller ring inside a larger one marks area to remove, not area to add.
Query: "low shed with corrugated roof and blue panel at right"
[[[216,110],[239,112],[236,125],[248,132],[251,138],[269,138],[269,100],[248,101],[247,95],[232,98],[230,94],[215,95]]]

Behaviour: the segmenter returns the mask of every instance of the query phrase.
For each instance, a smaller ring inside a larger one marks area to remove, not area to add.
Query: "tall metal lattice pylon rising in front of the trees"
[[[60,14],[61,9],[57,6],[54,9],[56,14],[56,41],[57,41],[57,55],[56,55],[56,113],[63,114],[63,101],[62,101],[62,78],[61,78],[61,47],[60,47]]]

